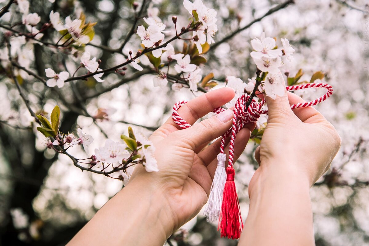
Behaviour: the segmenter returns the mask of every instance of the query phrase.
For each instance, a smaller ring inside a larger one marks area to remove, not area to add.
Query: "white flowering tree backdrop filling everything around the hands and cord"
[[[247,107],[260,94],[283,94],[282,85],[321,81],[334,86],[319,109],[343,147],[312,189],[317,245],[367,240],[364,1],[0,0],[0,7],[4,245],[68,242],[135,166],[160,171],[146,136],[176,101],[227,86],[236,96],[224,107],[244,94]],[[235,166],[243,214],[266,119]],[[216,226],[201,214],[168,245],[235,245],[214,237]]]

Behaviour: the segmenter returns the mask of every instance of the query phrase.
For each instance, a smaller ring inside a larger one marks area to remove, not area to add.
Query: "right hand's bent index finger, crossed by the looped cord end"
[[[302,99],[301,97],[297,96],[292,92],[288,91],[287,95],[290,105],[306,102],[304,99]],[[324,116],[313,107],[295,108],[292,111],[302,122],[305,123],[317,123],[325,121]]]

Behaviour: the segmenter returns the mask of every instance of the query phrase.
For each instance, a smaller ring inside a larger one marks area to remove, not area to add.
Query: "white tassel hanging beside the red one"
[[[219,153],[217,156],[218,166],[215,169],[213,183],[211,184],[210,195],[207,208],[204,215],[207,216],[207,221],[215,221],[220,215],[222,207],[223,190],[227,174],[225,173],[225,160],[227,156],[224,153]]]

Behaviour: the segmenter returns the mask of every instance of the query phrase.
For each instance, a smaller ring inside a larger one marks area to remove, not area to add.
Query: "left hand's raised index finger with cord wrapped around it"
[[[228,103],[232,100],[234,95],[234,90],[229,87],[209,91],[182,105],[178,110],[178,114],[192,125],[197,119],[208,114],[214,108]],[[171,132],[179,129],[181,128],[173,121],[172,117],[169,117],[168,120],[151,135],[150,140],[153,142],[160,141]]]

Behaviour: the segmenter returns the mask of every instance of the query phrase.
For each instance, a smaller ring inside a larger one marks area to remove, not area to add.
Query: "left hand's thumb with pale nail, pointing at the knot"
[[[218,115],[205,119],[192,127],[177,131],[194,150],[219,136],[223,135],[232,126],[233,112],[227,109]]]

